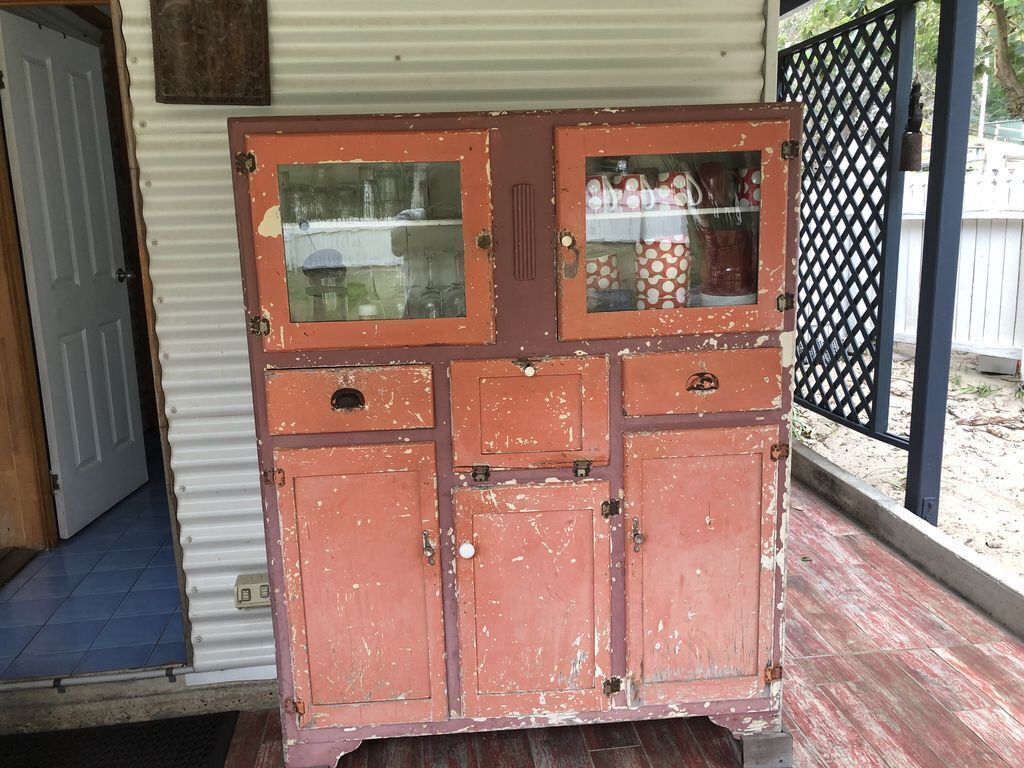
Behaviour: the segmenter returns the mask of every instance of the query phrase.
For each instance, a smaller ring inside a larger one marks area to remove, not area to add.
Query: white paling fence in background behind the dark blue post
[[[904,179],[896,340],[918,331],[927,173]],[[1024,169],[968,173],[964,189],[953,348],[1021,357],[1024,348]]]

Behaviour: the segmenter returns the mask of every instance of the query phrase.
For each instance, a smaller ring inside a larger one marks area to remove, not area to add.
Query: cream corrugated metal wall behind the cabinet
[[[759,101],[767,5],[273,0],[273,106],[240,109],[156,103],[150,2],[122,1],[197,670],[273,662],[233,606],[266,560],[226,118]]]

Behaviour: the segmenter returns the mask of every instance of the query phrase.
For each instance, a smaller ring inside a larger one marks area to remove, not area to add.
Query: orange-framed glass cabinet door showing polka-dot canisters
[[[559,336],[780,329],[783,122],[555,131]]]

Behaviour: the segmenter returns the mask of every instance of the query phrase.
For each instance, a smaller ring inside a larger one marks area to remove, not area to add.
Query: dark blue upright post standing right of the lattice
[[[904,506],[939,517],[978,0],[942,0]]]

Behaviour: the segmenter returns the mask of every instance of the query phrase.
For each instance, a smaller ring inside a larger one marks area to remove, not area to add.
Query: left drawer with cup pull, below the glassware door
[[[317,368],[266,375],[270,434],[428,429],[430,366]]]

